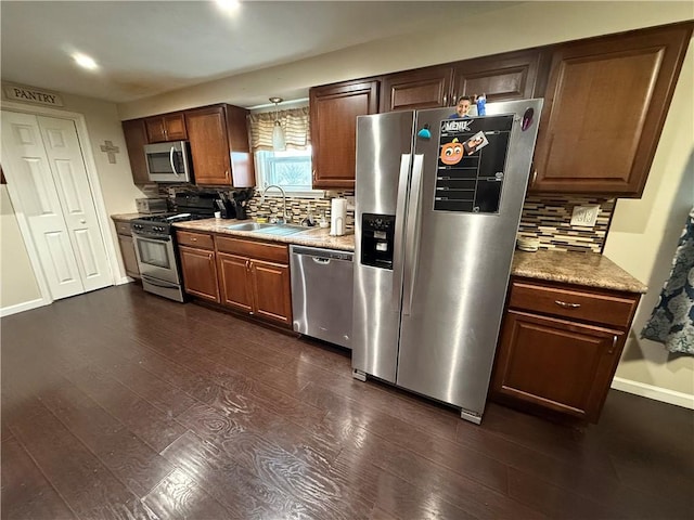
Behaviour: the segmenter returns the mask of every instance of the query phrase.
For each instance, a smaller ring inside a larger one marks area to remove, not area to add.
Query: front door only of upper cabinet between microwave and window
[[[227,121],[221,106],[185,113],[195,184],[231,185]]]

